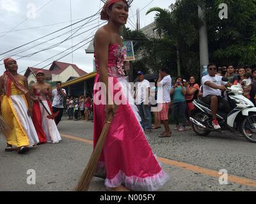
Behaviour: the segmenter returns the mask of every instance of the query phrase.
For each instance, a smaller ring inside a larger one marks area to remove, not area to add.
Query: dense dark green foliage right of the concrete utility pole
[[[228,18],[218,17],[219,4],[228,6]],[[207,25],[211,61],[218,64],[256,64],[256,1],[207,1]]]

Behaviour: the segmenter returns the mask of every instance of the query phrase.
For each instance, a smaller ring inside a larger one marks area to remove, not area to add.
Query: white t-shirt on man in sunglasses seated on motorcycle
[[[214,96],[221,96],[220,89],[213,89],[209,87],[208,85],[205,85],[205,82],[211,82],[213,84],[216,84],[218,86],[226,85],[227,82],[223,82],[221,80],[221,76],[215,75],[215,77],[211,77],[210,75],[206,75],[202,77],[202,85],[203,85],[203,97],[208,95],[214,95]]]

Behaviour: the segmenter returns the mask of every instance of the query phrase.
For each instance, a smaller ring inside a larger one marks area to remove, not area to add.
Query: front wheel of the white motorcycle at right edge
[[[256,143],[256,115],[244,117],[241,132],[248,142]]]

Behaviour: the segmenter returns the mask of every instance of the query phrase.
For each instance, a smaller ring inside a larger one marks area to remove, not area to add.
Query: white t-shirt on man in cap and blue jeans
[[[145,103],[146,101],[148,104],[148,88],[150,88],[150,83],[148,80],[138,82],[136,90],[136,104]]]

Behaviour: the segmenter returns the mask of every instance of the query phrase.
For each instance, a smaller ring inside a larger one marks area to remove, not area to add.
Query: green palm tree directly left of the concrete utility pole
[[[170,38],[172,45],[176,48],[177,74],[181,71],[188,73],[188,70],[198,65],[198,25],[200,21],[197,11],[198,1],[178,0],[170,6],[170,9],[159,7],[147,11],[157,11],[155,22],[157,31],[161,36]],[[189,56],[193,56],[193,59]]]

